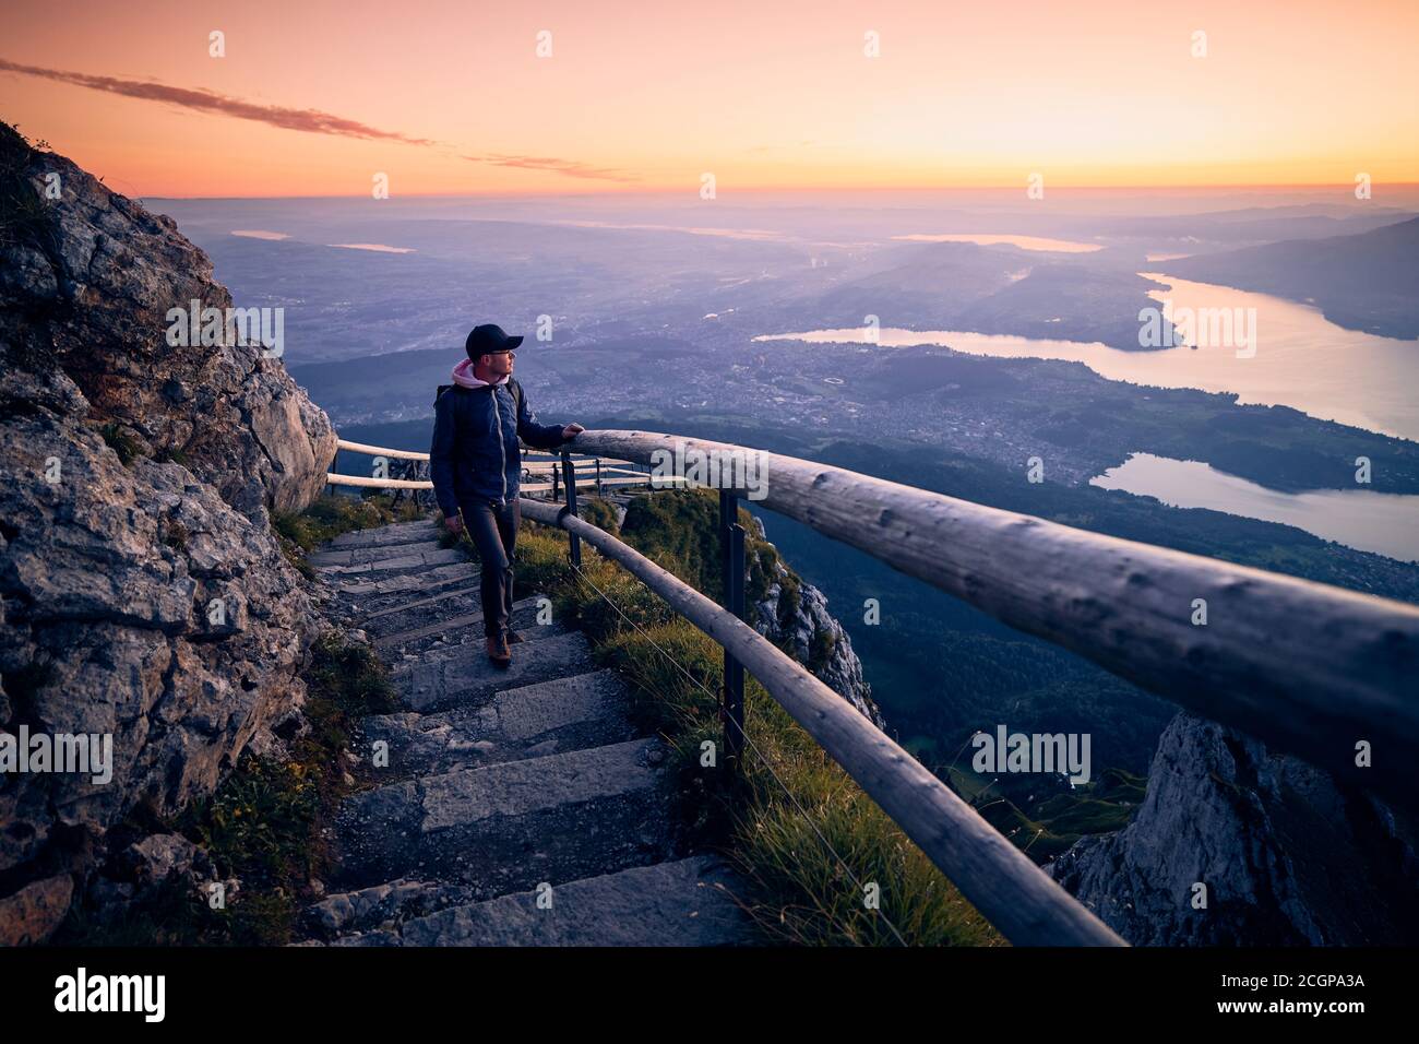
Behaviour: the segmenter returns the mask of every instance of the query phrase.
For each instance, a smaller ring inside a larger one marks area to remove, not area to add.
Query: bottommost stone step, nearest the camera
[[[414,918],[394,939],[346,945],[404,946],[735,946],[753,942],[729,866],[695,855],[450,906]],[[541,899],[541,902],[539,902]],[[551,899],[551,906],[548,906]]]

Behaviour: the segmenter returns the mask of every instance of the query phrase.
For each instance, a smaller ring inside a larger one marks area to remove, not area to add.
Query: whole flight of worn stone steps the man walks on
[[[365,719],[389,749],[335,825],[338,869],[307,910],[336,946],[724,946],[752,942],[717,857],[673,828],[667,751],[637,736],[586,638],[538,624],[512,665],[482,642],[478,567],[431,521],[348,533],[311,555],[332,614],[390,666],[404,709]]]

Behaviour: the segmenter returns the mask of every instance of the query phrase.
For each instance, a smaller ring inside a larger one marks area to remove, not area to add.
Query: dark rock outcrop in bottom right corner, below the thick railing
[[[1134,945],[1405,945],[1419,930],[1416,827],[1294,757],[1178,714],[1128,827],[1080,839],[1047,869]]]

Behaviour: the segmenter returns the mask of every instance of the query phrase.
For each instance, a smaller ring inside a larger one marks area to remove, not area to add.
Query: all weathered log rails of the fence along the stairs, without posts
[[[762,484],[736,494],[1344,783],[1419,807],[1410,771],[1419,757],[1419,608],[732,443],[595,430],[572,445],[603,463],[616,456],[614,463],[650,466],[695,453],[752,455]],[[949,787],[748,624],[565,506],[519,503],[529,520],[565,528],[620,562],[719,642],[1007,939],[1122,945]],[[1362,747],[1368,758],[1357,756]]]

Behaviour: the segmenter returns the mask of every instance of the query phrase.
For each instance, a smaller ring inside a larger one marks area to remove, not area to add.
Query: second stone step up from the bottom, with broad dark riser
[[[345,801],[336,883],[465,883],[480,899],[670,854],[666,750],[630,740],[393,783]]]

